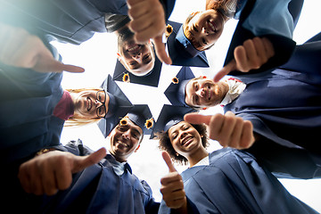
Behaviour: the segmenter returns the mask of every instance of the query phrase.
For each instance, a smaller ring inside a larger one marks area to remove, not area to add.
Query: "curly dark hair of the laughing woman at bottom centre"
[[[202,146],[204,148],[208,147],[209,146],[209,142],[208,142],[208,137],[207,137],[207,130],[206,130],[206,126],[205,125],[193,125],[193,128],[195,128],[198,133],[202,136]],[[156,134],[157,138],[159,139],[159,149],[161,149],[162,151],[166,151],[166,152],[169,152],[169,156],[171,157],[172,161],[175,161],[181,165],[187,165],[188,161],[187,159],[178,154],[177,155],[177,152],[174,150],[173,148],[173,145],[171,144],[170,142],[170,139],[169,139],[169,131],[166,131],[166,132],[159,132]]]

